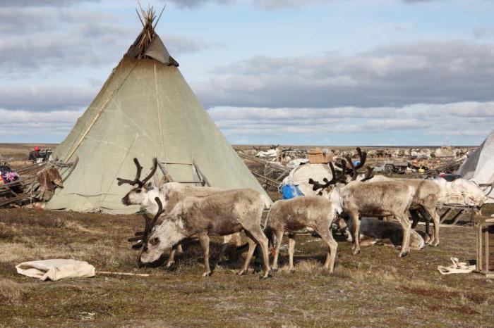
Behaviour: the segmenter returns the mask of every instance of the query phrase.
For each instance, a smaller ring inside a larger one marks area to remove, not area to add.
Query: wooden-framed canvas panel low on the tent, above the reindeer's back
[[[194,184],[198,187],[211,186],[203,172],[201,172],[201,170],[198,168],[198,165],[194,161],[192,161],[192,163],[173,163],[158,161],[158,166],[163,175],[173,182],[179,182],[182,184]],[[178,173],[181,179],[174,178],[174,176],[176,175],[173,175],[172,172]],[[190,177],[188,177],[188,175],[190,175]]]

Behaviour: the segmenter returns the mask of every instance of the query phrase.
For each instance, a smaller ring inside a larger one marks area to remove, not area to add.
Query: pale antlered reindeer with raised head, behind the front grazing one
[[[157,159],[153,159],[152,169],[149,175],[147,175],[142,181],[140,180],[140,175],[143,170],[140,166],[139,160],[134,158],[135,167],[137,171],[135,173],[135,178],[133,180],[117,178],[118,184],[131,184],[131,186],[137,186],[128,191],[128,193],[123,196],[122,203],[126,206],[140,205],[148,213],[156,214],[158,212],[158,206],[155,198],[158,197],[159,201],[163,204],[164,213],[169,213],[176,206],[177,203],[182,201],[188,196],[193,197],[204,197],[214,194],[215,192],[224,191],[223,189],[214,187],[192,187],[179,182],[166,182],[160,183],[155,175],[157,170]],[[153,182],[148,182],[151,177],[153,177]],[[165,176],[165,181],[169,180],[169,177]],[[236,233],[229,236],[224,236],[222,251],[219,254],[219,259],[221,260],[223,253],[227,247],[227,244],[233,240],[236,246],[241,244],[240,234]],[[175,263],[176,252],[181,253],[181,245],[171,249],[170,256],[168,258],[166,267],[169,268]]]

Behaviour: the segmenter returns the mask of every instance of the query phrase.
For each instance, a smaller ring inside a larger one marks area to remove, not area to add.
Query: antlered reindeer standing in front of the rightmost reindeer
[[[341,167],[346,168],[347,163],[342,160]],[[330,163],[332,176],[335,177],[335,167]],[[407,256],[409,254],[409,239],[411,223],[409,222],[408,210],[414,197],[414,189],[406,184],[399,182],[366,182],[366,179],[370,177],[370,171],[368,170],[368,177],[359,181],[351,181],[344,187],[333,187],[332,184],[337,182],[345,183],[345,170],[341,174],[332,179],[331,181],[324,180],[325,184],[320,184],[313,179],[309,180],[310,184],[313,184],[313,190],[321,189],[320,195],[325,194],[325,197],[329,198],[335,206],[337,213],[346,213],[352,220],[353,229],[352,237],[354,245],[354,254],[360,253],[359,245],[359,217],[380,217],[393,215],[397,218],[399,223],[403,227],[403,241],[402,250],[399,253],[400,257]],[[354,172],[354,177],[358,175]]]

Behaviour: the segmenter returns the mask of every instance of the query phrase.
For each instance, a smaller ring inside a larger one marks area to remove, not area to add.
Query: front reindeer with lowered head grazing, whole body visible
[[[161,201],[155,198],[158,213],[162,212]],[[248,270],[255,250],[255,244],[260,244],[263,251],[264,272],[261,278],[270,275],[270,265],[267,253],[268,242],[260,227],[265,199],[252,189],[235,189],[221,191],[205,197],[187,197],[178,203],[169,213],[163,214],[163,222],[157,227],[148,227],[144,233],[131,241],[141,240],[136,247],[143,246],[140,254],[141,263],[152,263],[162,256],[162,253],[185,239],[198,238],[203,248],[205,272],[203,276],[211,275],[209,263],[210,235],[226,236],[243,230],[248,237],[248,254],[239,275]],[[151,222],[156,223],[156,220]],[[145,237],[143,238],[143,235]],[[140,239],[139,239],[140,238]]]

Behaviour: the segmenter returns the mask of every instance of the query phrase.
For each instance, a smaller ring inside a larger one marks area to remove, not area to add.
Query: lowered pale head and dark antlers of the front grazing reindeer
[[[150,219],[146,214],[143,214],[145,220],[144,231],[135,232],[135,237],[128,239],[128,241],[137,241],[132,248],[143,248],[140,253],[140,263],[155,262],[162,256],[164,251],[185,238],[185,235],[180,231],[180,221],[177,225],[176,220],[165,218],[161,225],[155,227],[159,215],[164,213],[162,202],[158,197],[155,198],[155,202],[158,207],[155,217]]]

